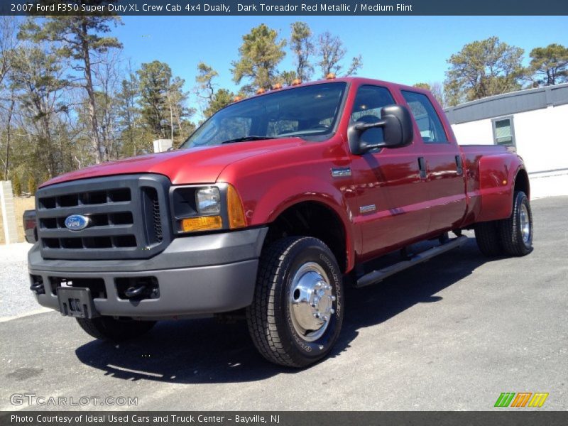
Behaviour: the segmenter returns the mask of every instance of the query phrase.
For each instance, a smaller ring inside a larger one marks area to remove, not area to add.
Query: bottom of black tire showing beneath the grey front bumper
[[[76,318],[80,327],[95,339],[122,342],[146,334],[155,321],[115,320],[112,317]]]

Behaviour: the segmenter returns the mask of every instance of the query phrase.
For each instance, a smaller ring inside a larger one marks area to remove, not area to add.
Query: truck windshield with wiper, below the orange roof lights
[[[273,92],[229,105],[187,138],[181,148],[332,133],[346,83]]]

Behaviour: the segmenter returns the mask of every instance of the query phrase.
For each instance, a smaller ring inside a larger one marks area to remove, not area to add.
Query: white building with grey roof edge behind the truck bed
[[[528,173],[568,173],[568,84],[499,94],[446,109],[461,145],[514,146]]]

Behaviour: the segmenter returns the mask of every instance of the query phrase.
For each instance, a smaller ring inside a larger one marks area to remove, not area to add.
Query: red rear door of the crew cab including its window
[[[449,138],[430,98],[420,92],[401,90],[422,139],[422,180],[430,199],[428,232],[455,228],[466,212],[465,177],[461,153]]]

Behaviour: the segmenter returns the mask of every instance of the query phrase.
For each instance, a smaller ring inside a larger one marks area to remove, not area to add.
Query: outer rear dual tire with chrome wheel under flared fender
[[[503,249],[510,256],[526,256],[532,251],[532,212],[523,191],[513,195],[513,213],[501,221],[499,229]]]

